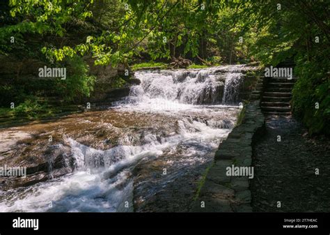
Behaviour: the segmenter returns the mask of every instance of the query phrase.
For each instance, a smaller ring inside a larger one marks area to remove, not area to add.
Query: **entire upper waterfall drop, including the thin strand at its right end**
[[[201,70],[140,71],[135,77],[141,84],[133,86],[131,102],[168,102],[191,105],[235,104],[244,66],[221,66]]]

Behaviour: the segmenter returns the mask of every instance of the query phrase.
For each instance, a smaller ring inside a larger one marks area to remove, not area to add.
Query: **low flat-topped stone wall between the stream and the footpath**
[[[254,140],[265,128],[265,117],[260,100],[245,106],[245,115],[228,138],[219,145],[214,164],[207,172],[205,182],[193,212],[251,212],[249,176],[227,176],[227,167],[251,167]]]

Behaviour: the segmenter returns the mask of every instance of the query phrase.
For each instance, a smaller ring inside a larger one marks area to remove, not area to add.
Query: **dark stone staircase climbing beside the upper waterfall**
[[[291,61],[278,64],[278,68],[293,68]],[[261,92],[261,110],[269,115],[290,115],[292,88],[297,77],[265,77]]]

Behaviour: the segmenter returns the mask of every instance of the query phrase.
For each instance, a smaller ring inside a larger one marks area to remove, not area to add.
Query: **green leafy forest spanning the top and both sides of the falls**
[[[294,61],[292,109],[311,134],[330,130],[330,2],[312,0],[6,0],[0,3],[1,63],[33,59],[68,79],[1,73],[5,116],[37,117],[49,96],[81,103],[97,91],[95,66],[188,68]],[[175,62],[176,61],[176,62]],[[179,62],[178,62],[179,61]],[[5,68],[1,67],[1,70]],[[122,86],[118,76],[113,86]],[[10,109],[15,103],[15,110]],[[317,105],[317,108],[315,108]]]

